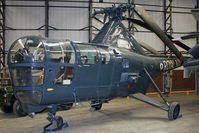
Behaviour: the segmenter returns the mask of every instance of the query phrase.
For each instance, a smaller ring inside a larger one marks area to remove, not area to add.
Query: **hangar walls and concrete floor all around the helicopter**
[[[91,18],[94,10],[120,4],[142,6],[160,28],[174,38],[198,33],[199,31],[199,24],[191,14],[192,9],[199,8],[199,0],[1,0],[0,88],[11,86],[7,68],[7,54],[16,39],[27,35],[37,35],[52,39],[91,42],[103,26],[99,21]],[[138,17],[131,10],[126,12],[126,16]],[[103,21],[103,16],[99,15],[98,17]],[[149,44],[155,50],[168,57],[171,55],[168,47],[151,31],[127,21],[123,21],[123,24],[131,34]],[[198,44],[198,39],[185,40],[183,43],[194,47]],[[187,51],[180,47],[177,48],[183,55],[187,55]],[[184,126],[182,131],[184,133],[198,132],[199,104],[198,96],[195,93],[199,93],[199,73],[192,73],[190,78],[184,79],[183,71],[183,67],[180,67],[169,73],[160,74],[154,79],[165,96],[168,96],[169,101],[182,102],[185,117],[177,120],[177,122],[175,121],[174,124],[164,119],[164,113],[160,113],[160,118],[158,118],[156,109],[151,109],[150,106],[141,107],[143,104],[136,101],[131,103],[127,97],[127,99],[116,99],[110,106],[105,105],[104,108],[108,111],[103,110],[88,114],[87,109],[81,108],[80,111],[77,109],[69,110],[68,114],[58,112],[69,119],[71,123],[71,128],[63,132],[130,133],[133,131],[144,133],[154,132],[154,130],[179,132],[179,125]],[[182,93],[182,96],[174,93]],[[153,85],[149,86],[147,94],[158,99],[156,97],[158,93]],[[167,94],[174,94],[174,96]],[[46,114],[39,114],[39,117],[31,121],[27,117],[16,118],[14,115],[0,113],[0,130],[5,133],[15,132],[12,129],[16,129],[16,132],[27,132],[27,130],[24,131],[24,127],[28,129],[28,132],[39,132],[42,125],[46,124]],[[146,116],[146,114],[151,115],[151,117]],[[133,121],[131,121],[131,118]],[[24,121],[27,121],[27,124],[24,124]],[[39,122],[37,123],[37,121]],[[6,127],[8,123],[12,124],[12,128]],[[24,124],[24,126],[15,123]],[[158,124],[159,126],[154,126]],[[132,125],[137,127],[135,128]],[[143,125],[146,125],[146,129],[143,128]]]

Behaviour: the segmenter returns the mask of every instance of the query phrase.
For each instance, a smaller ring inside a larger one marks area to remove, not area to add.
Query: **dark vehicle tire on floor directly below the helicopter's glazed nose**
[[[14,101],[13,112],[16,116],[19,116],[19,117],[23,117],[23,116],[27,115],[27,113],[24,112],[24,110],[18,100]]]

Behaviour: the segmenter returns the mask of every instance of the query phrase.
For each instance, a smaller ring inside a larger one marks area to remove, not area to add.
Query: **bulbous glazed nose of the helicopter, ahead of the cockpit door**
[[[41,103],[45,50],[42,38],[26,36],[17,39],[8,52],[8,66],[15,96],[22,103]],[[38,64],[39,63],[39,64]]]

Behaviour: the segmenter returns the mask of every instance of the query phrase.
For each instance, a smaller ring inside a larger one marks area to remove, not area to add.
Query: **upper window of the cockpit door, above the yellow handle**
[[[75,54],[69,42],[52,42],[48,43],[50,58],[56,63],[75,63]]]

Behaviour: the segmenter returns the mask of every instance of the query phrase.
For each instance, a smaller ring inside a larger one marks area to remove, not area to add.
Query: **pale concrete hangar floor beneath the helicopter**
[[[89,112],[89,107],[59,111],[57,115],[67,120],[69,127],[57,133],[198,133],[199,96],[172,94],[167,99],[181,104],[182,118],[168,121],[165,111],[135,99],[117,98],[98,112]],[[33,119],[17,118],[0,112],[0,133],[41,133],[48,123],[46,117],[47,113],[41,113]]]

